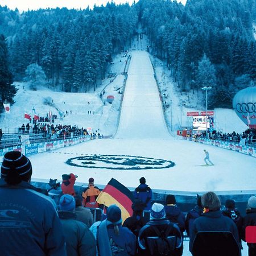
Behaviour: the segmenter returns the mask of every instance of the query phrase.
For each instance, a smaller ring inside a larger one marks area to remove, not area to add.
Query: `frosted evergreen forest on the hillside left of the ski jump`
[[[88,92],[104,79],[111,54],[129,44],[137,12],[128,4],[93,10],[40,9],[5,13],[0,31],[9,36],[11,70],[22,79],[28,65],[37,63],[52,86],[66,92]],[[7,15],[8,14],[8,15]],[[13,25],[14,24],[14,25]]]

